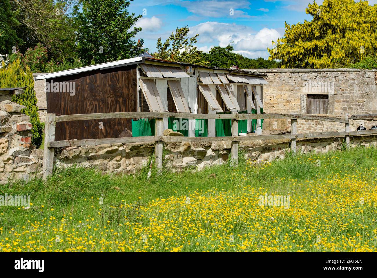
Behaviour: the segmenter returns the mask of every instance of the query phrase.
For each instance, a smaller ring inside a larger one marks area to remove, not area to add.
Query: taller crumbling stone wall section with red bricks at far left
[[[23,108],[9,100],[0,103],[0,184],[40,175],[41,163],[31,146],[32,124],[20,113]]]

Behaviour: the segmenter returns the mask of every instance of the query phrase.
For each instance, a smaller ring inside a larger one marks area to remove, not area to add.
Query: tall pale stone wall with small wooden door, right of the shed
[[[308,94],[328,95],[328,114],[377,114],[377,70],[251,69],[267,73],[265,113],[307,113]],[[316,90],[320,86],[320,91]],[[309,90],[308,90],[309,89]],[[351,121],[351,131],[362,121]],[[364,121],[367,129],[376,121]],[[264,130],[289,129],[290,120],[265,120]],[[298,120],[297,132],[344,131],[344,124]]]

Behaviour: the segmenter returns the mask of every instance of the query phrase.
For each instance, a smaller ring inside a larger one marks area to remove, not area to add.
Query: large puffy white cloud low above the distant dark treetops
[[[231,44],[234,52],[252,58],[268,57],[267,47],[272,48],[272,40],[282,37],[276,29],[263,28],[256,32],[245,25],[220,22],[205,22],[193,26],[189,35],[194,34],[199,34],[198,43],[221,47]],[[210,48],[203,46],[203,49]]]

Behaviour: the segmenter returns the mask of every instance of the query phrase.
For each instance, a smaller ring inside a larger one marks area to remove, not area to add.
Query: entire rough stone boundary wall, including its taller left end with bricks
[[[9,100],[0,103],[0,184],[8,180],[28,180],[42,176],[43,150],[31,145],[29,116],[24,108]],[[342,148],[344,137],[298,139],[297,152],[324,153]],[[283,159],[290,151],[289,140],[241,141],[245,158],[256,162]],[[351,147],[377,147],[377,136],[351,136]],[[55,148],[54,167],[96,167],[103,173],[133,174],[149,167],[154,142],[103,144],[97,146]],[[172,171],[202,170],[227,163],[231,142],[164,143],[164,167]]]

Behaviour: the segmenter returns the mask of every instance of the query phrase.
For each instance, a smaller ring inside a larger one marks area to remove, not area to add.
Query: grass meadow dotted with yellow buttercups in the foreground
[[[0,251],[377,251],[375,148],[147,171],[70,168],[0,187],[31,196],[28,209],[0,207]]]

